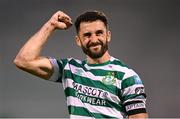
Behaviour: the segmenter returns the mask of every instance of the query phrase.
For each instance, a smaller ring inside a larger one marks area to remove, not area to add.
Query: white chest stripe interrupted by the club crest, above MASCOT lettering
[[[95,76],[93,73],[89,72],[89,71],[84,71],[83,68],[79,68],[76,67],[74,65],[66,65],[65,66],[66,70],[71,70],[73,74],[79,75],[81,77],[85,77],[85,78],[90,78],[91,80],[94,81],[100,81],[102,82],[102,79],[104,78],[104,76]],[[77,73],[77,70],[82,71],[81,74]],[[118,89],[121,89],[121,80],[116,79],[116,83],[113,84],[114,86],[116,86]]]

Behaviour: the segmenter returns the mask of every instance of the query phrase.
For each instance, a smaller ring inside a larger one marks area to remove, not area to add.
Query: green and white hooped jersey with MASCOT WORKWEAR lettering
[[[146,95],[139,76],[111,57],[102,64],[74,58],[52,59],[50,80],[61,82],[70,118],[125,118],[146,112]]]

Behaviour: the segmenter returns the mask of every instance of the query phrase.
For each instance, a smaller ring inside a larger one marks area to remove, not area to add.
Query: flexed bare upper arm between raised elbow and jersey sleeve
[[[32,61],[16,59],[14,62],[18,68],[43,79],[49,79],[53,73],[53,66],[47,57],[39,57]]]

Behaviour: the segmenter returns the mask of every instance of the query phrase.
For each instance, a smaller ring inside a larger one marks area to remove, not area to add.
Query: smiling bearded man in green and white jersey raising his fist
[[[147,118],[146,94],[141,79],[108,52],[111,32],[99,11],[77,17],[76,43],[87,59],[40,56],[56,29],[66,30],[71,18],[56,12],[22,47],[14,63],[20,69],[63,84],[70,118]]]

